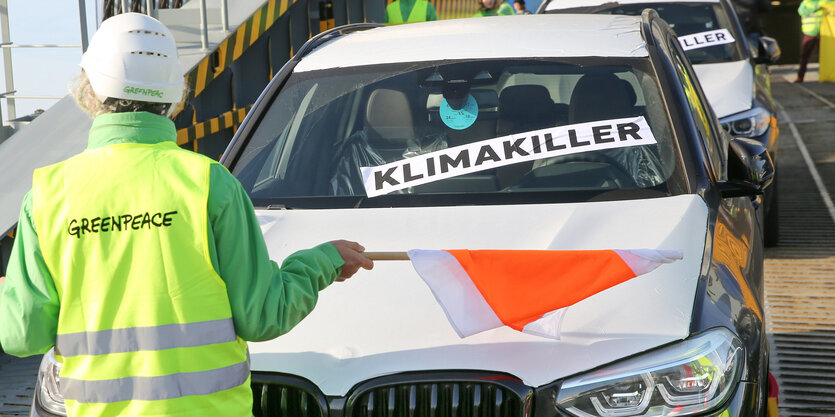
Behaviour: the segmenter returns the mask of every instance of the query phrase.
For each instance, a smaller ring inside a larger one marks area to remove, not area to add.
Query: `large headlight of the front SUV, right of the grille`
[[[744,360],[739,339],[718,328],[567,379],[556,405],[578,417],[703,413],[733,394]]]

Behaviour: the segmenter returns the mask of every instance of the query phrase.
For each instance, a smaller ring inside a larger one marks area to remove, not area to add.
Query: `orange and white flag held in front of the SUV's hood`
[[[565,308],[661,264],[678,250],[410,250],[460,337],[509,326],[559,339]]]

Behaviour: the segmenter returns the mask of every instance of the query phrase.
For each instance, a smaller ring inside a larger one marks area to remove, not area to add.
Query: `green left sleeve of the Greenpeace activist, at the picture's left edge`
[[[20,208],[6,280],[0,284],[0,346],[20,357],[45,353],[55,345],[60,305],[41,254],[29,192]]]

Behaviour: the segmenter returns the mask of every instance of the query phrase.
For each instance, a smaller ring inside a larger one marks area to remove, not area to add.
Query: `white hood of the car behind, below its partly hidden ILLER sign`
[[[747,60],[693,65],[716,117],[730,116],[751,108],[754,69]]]

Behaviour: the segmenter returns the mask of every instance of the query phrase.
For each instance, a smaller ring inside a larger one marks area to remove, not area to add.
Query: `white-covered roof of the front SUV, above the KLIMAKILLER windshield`
[[[294,71],[452,59],[646,56],[640,16],[498,16],[339,36],[304,56]]]

